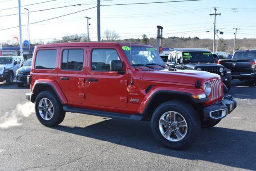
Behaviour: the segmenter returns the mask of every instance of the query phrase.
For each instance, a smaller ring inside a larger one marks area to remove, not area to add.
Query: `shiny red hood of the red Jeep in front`
[[[168,69],[158,71],[148,71],[143,75],[143,80],[160,81],[160,82],[176,82],[182,84],[195,84],[197,80],[204,82],[213,78],[220,77],[218,74],[213,74],[205,71],[196,70],[176,70],[169,71]]]

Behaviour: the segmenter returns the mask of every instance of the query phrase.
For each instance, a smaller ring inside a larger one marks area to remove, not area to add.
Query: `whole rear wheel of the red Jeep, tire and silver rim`
[[[40,123],[48,127],[60,124],[66,114],[53,91],[40,92],[35,100],[35,109]]]

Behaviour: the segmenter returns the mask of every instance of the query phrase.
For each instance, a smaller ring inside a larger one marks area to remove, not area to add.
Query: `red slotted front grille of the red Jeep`
[[[215,78],[209,82],[212,89],[212,101],[223,96],[223,87],[221,78]]]

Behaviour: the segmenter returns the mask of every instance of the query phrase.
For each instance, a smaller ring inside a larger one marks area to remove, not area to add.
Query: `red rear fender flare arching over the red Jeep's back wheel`
[[[57,97],[60,100],[60,102],[62,103],[62,105],[68,104],[68,101],[67,101],[64,93],[62,92],[60,85],[58,85],[58,83],[56,83],[54,80],[47,80],[47,79],[42,79],[42,80],[38,80],[37,82],[35,82],[33,89],[32,89],[32,97],[31,97],[32,102],[36,98],[36,97],[33,97],[33,95],[34,95],[34,93],[36,91],[36,87],[38,85],[49,85],[50,87],[52,87],[53,91],[57,95]]]

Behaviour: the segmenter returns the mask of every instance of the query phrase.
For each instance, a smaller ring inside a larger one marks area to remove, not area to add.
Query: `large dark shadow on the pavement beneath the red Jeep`
[[[176,151],[164,148],[157,143],[149,122],[110,119],[88,127],[73,128],[59,125],[53,129],[150,153],[209,161],[241,169],[256,169],[256,132],[251,131],[221,127],[202,129],[202,135],[194,145],[182,151]]]

